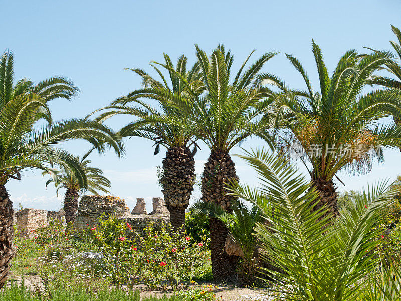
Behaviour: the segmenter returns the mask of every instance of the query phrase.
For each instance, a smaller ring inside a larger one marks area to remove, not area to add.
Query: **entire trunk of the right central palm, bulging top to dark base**
[[[202,174],[202,200],[217,204],[224,210],[230,210],[236,198],[226,195],[225,188],[230,181],[238,179],[230,155],[226,152],[212,152]],[[227,279],[235,274],[236,258],[227,255],[224,248],[227,234],[228,229],[222,222],[210,218],[212,273],[216,280]]]

